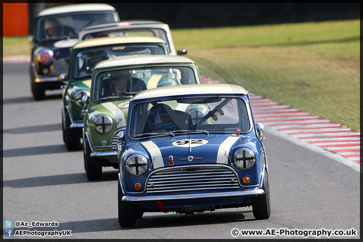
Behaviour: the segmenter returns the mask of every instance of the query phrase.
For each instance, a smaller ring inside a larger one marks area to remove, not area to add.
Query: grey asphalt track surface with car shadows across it
[[[12,220],[13,233],[71,230],[70,236],[62,238],[360,238],[359,166],[344,162],[359,163],[263,122],[267,114],[255,107],[264,98],[253,94],[255,118],[266,128],[271,217],[255,220],[251,207],[193,216],[145,213],[135,228],[120,228],[117,171],[104,168],[100,181],[87,180],[82,151],[67,151],[62,140],[61,91],[47,91],[45,100],[34,101],[28,67],[26,61],[3,64],[4,232],[5,220]],[[16,227],[17,221],[55,221],[58,226],[27,227],[23,223]],[[265,235],[242,235],[256,229]],[[344,235],[328,236],[329,231],[338,230]],[[233,235],[236,231],[238,234]],[[308,232],[311,236],[305,236]],[[319,233],[323,234],[317,236]]]

